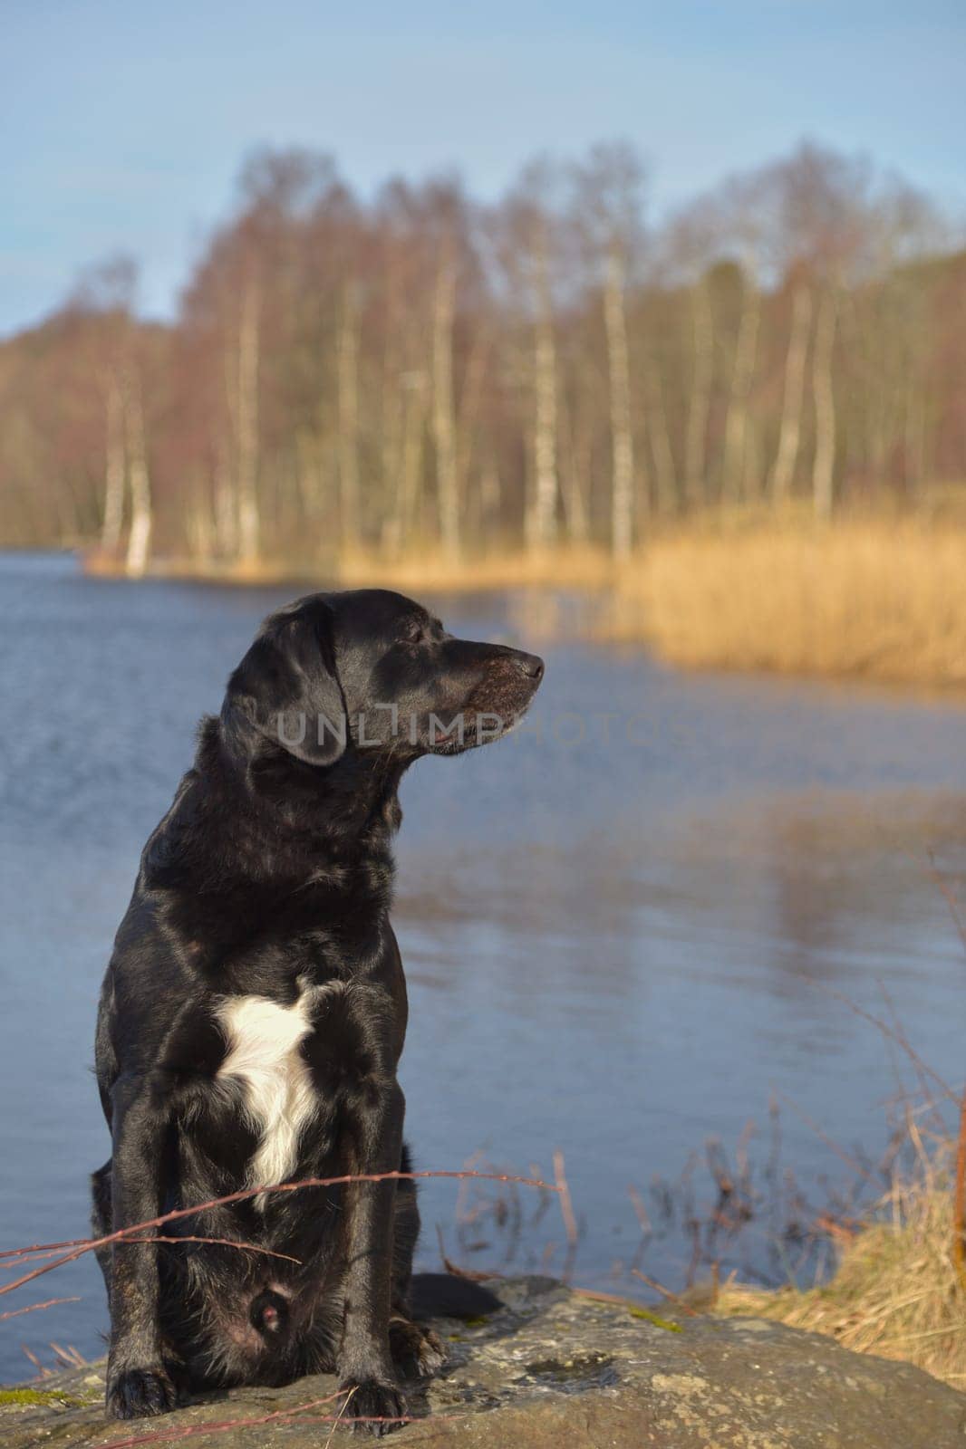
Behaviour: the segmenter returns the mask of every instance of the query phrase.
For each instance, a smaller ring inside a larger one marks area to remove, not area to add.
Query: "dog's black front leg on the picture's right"
[[[402,1153],[405,1098],[397,1082],[380,1084],[360,1103],[348,1133],[350,1171],[396,1172]],[[339,1349],[341,1387],[351,1392],[347,1419],[358,1429],[389,1433],[405,1414],[389,1350],[393,1211],[396,1179],[352,1182],[345,1191],[345,1326]]]

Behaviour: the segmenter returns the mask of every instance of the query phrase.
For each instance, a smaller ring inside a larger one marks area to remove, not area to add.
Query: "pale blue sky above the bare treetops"
[[[812,139],[962,214],[966,9],[920,0],[0,0],[0,333],[78,270],[142,261],[167,316],[247,151],[334,152],[370,191],[635,142],[660,213]]]

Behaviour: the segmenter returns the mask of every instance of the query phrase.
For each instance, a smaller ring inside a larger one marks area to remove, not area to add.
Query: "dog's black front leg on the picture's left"
[[[168,1120],[145,1078],[119,1078],[112,1107],[112,1219],[119,1232],[162,1211]],[[161,1350],[158,1249],[115,1242],[112,1255],[107,1414],[164,1414],[176,1407],[177,1394]]]

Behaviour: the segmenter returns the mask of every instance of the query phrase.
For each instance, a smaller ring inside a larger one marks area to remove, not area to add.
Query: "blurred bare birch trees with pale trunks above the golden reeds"
[[[0,345],[0,539],[144,569],[339,549],[608,543],[966,478],[966,254],[931,206],[805,145],[647,225],[622,145],[363,201],[254,156],[177,320],[131,262]]]

